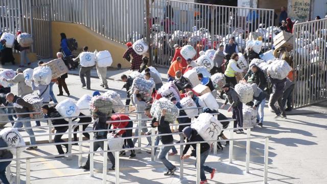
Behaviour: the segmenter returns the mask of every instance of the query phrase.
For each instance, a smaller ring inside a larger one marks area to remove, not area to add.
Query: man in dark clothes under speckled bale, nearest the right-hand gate
[[[276,114],[275,119],[281,117],[281,115],[282,115],[282,118],[287,118],[284,107],[283,107],[283,103],[282,103],[286,78],[284,78],[282,80],[273,79],[268,74],[268,80],[272,84],[272,96],[270,97],[271,100],[270,100],[269,105]],[[278,102],[279,110],[275,107],[275,102]],[[281,112],[282,112],[282,114],[281,114]]]

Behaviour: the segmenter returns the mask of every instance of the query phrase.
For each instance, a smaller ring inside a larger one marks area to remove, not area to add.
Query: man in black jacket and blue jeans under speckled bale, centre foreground
[[[157,121],[156,118],[153,118],[151,126],[153,128],[158,127],[158,133],[159,134],[164,134],[164,133],[172,133],[169,122],[165,121],[165,116],[166,116],[166,109],[161,110],[161,118],[160,121]],[[160,141],[163,145],[167,144],[174,144],[174,138],[173,135],[161,135]],[[158,159],[166,166],[168,171],[164,174],[165,176],[171,176],[174,175],[176,171],[176,166],[174,166],[172,163],[170,163],[166,155],[170,149],[172,149],[174,146],[164,146],[159,152]]]

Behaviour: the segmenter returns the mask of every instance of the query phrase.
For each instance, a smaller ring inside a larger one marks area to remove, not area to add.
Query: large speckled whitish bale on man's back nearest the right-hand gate
[[[284,60],[275,60],[268,66],[267,73],[274,79],[284,79],[292,67]]]

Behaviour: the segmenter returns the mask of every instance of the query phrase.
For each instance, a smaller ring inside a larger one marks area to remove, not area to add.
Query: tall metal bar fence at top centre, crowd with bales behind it
[[[217,50],[234,36],[242,52],[249,36],[262,36],[264,50],[272,48],[274,10],[158,0],[150,1],[150,14],[155,65],[170,65],[174,44],[191,44],[197,52]]]

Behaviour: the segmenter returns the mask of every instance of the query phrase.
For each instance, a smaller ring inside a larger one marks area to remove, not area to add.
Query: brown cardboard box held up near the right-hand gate
[[[276,36],[274,36],[274,47],[275,49],[280,49],[285,47],[287,51],[293,50],[293,34],[283,31]]]

